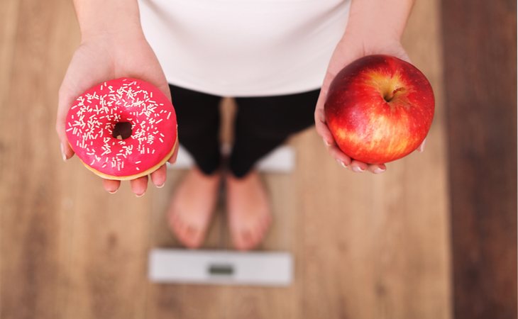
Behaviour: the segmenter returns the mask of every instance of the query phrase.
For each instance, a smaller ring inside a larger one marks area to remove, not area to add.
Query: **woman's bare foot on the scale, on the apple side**
[[[226,174],[226,206],[233,245],[250,250],[263,240],[272,223],[268,194],[254,169],[237,179]]]

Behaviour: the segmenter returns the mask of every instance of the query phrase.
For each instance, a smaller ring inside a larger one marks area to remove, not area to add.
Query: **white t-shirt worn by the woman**
[[[219,96],[318,89],[350,0],[139,0],[170,84]]]

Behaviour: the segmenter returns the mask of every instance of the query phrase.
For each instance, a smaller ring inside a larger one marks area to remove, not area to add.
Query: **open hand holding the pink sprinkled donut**
[[[82,17],[77,4],[76,9],[81,24]],[[60,138],[64,160],[70,159],[75,154],[65,132],[67,113],[77,97],[92,86],[121,77],[142,79],[156,86],[167,99],[171,99],[169,86],[160,64],[145,40],[140,25],[126,23],[124,30],[113,28],[99,32],[93,32],[82,26],[82,33],[82,43],[72,57],[59,91],[55,127]],[[175,144],[168,162],[176,161],[177,151],[178,143]],[[161,187],[166,179],[165,164],[150,175],[153,184]],[[120,180],[103,179],[104,189],[112,194],[119,189],[120,183]],[[142,196],[147,189],[147,184],[147,175],[138,177],[131,180],[131,189],[137,196]]]

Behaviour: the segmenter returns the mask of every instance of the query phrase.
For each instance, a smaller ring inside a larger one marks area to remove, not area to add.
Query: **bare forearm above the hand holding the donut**
[[[74,0],[83,38],[141,32],[137,0]]]

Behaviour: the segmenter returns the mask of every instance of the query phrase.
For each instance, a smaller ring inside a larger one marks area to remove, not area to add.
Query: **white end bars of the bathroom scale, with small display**
[[[228,145],[221,152],[228,155]],[[169,169],[187,169],[192,157],[180,145]],[[260,172],[290,173],[294,150],[282,145],[256,164]],[[237,252],[155,248],[149,254],[149,279],[155,283],[289,286],[293,280],[290,252]]]

